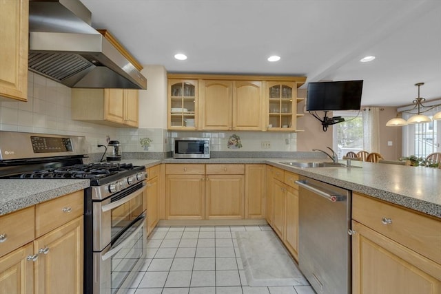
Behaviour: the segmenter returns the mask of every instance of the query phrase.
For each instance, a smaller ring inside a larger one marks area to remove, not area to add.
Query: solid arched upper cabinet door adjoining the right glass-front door
[[[234,81],[233,86],[233,129],[262,131],[262,82]]]

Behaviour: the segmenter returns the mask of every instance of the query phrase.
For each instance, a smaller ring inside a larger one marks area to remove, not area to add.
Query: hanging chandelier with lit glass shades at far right
[[[387,127],[401,127],[402,125],[408,125],[413,123],[430,123],[432,120],[441,120],[441,112],[436,113],[432,117],[432,119],[429,118],[429,116],[422,114],[424,112],[429,112],[430,110],[432,110],[437,106],[440,106],[441,104],[424,106],[422,103],[424,103],[426,99],[420,97],[420,87],[424,85],[424,83],[416,83],[415,85],[418,87],[418,97],[412,101],[414,106],[411,110],[416,109],[417,113],[415,114],[412,112],[407,112],[409,114],[413,114],[413,116],[411,116],[408,120],[404,120],[403,118],[400,117],[400,114],[398,114],[396,118],[392,118],[386,123]],[[422,110],[422,108],[425,110]]]

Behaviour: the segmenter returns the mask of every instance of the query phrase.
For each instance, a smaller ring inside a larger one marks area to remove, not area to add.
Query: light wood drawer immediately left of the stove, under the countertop
[[[83,198],[84,192],[81,190],[37,204],[35,207],[36,238],[74,218],[82,216]]]

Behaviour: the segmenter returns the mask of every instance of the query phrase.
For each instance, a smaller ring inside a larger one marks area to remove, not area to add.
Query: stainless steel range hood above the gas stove
[[[91,23],[79,0],[30,0],[29,70],[68,87],[146,89],[140,70]]]

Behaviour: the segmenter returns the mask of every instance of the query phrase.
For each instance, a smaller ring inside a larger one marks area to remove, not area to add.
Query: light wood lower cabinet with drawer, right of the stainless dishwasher
[[[439,220],[353,193],[352,230],[353,294],[441,293]]]

